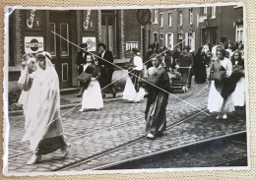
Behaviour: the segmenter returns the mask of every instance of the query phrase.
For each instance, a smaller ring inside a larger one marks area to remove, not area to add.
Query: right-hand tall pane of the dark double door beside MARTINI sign
[[[64,38],[60,38],[60,54],[62,56],[69,55],[69,30],[68,24],[60,24],[60,35]]]

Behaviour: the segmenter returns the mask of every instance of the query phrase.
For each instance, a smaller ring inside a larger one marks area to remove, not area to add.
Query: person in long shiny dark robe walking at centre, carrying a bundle
[[[169,78],[165,68],[160,66],[160,56],[152,55],[154,67],[148,70],[148,77],[145,81],[149,91],[147,106],[145,111],[147,138],[154,139],[162,136],[166,130],[166,105],[168,100]]]

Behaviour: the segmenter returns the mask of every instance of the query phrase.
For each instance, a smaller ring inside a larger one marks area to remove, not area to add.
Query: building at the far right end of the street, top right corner
[[[243,7],[212,6],[200,8],[201,45],[229,41],[244,43]]]

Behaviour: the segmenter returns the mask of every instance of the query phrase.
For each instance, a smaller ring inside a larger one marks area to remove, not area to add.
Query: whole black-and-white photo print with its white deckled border
[[[249,170],[244,16],[6,7],[4,174]]]

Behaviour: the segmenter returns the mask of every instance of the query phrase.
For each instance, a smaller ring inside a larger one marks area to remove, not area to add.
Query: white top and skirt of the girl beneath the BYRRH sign
[[[142,58],[140,56],[134,56],[133,63],[135,65],[134,70],[142,71],[143,70],[143,62]],[[129,76],[127,76],[127,81],[125,84],[125,88],[123,91],[123,99],[128,101],[141,101],[144,98],[145,90],[143,88],[140,88],[140,90],[137,92],[135,90],[135,87],[132,83],[132,80]]]

